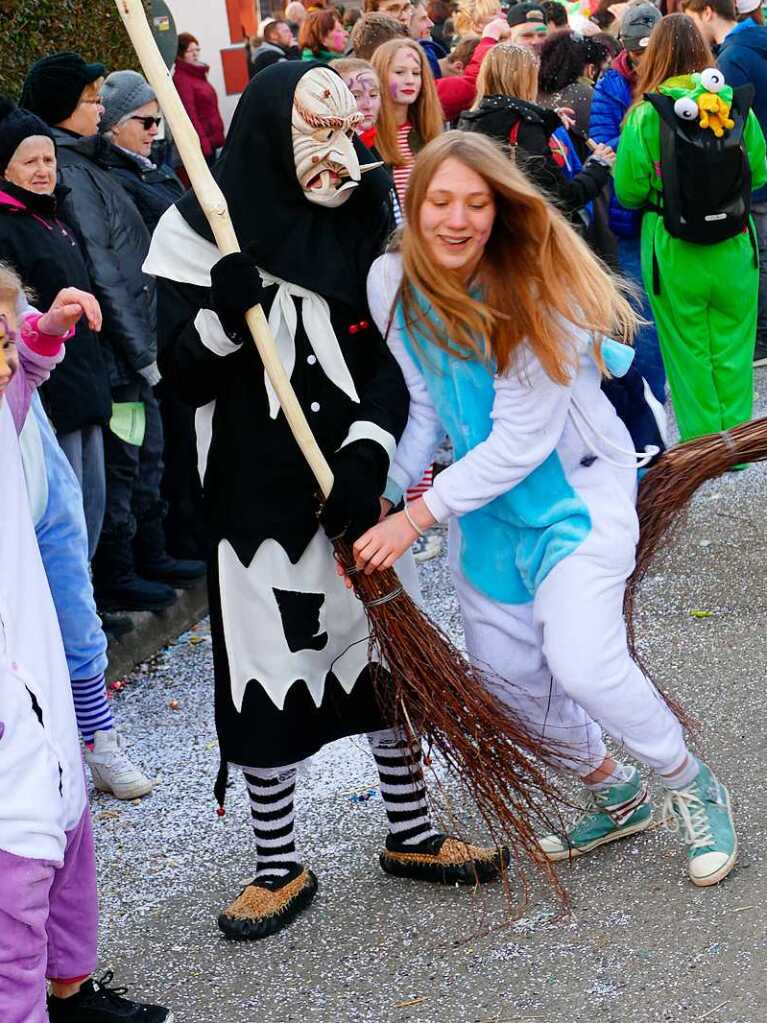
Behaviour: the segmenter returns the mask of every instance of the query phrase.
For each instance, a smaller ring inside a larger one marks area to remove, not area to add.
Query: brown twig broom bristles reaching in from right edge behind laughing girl
[[[626,584],[624,614],[635,655],[636,597],[656,557],[670,543],[697,488],[733,465],[767,459],[767,418],[743,422],[669,448],[639,486],[639,543],[636,565]]]

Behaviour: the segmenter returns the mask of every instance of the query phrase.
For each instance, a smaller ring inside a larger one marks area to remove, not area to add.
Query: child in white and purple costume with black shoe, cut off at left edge
[[[0,1018],[168,1023],[168,1010],[110,990],[110,975],[90,976],[98,924],[90,814],[61,634],[30,514],[44,466],[38,461],[36,474],[28,457],[25,481],[17,438],[33,390],[61,359],[82,310],[54,302],[17,333],[22,305],[18,278],[0,268]]]

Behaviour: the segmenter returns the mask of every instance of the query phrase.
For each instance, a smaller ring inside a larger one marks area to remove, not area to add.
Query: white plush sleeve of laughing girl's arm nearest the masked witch
[[[410,413],[392,462],[390,486],[386,492],[386,496],[395,503],[403,491],[422,479],[446,433],[432,404],[423,376],[407,353],[399,326],[394,321],[390,326],[392,306],[401,280],[402,263],[400,257],[393,253],[379,256],[367,277],[370,315],[397,359],[410,392]]]

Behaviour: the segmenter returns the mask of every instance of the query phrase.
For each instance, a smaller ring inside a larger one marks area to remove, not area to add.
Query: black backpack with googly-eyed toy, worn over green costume
[[[661,118],[663,198],[658,212],[674,238],[711,246],[750,230],[751,168],[743,129],[754,88],[745,85],[732,92],[735,126],[722,138],[701,128],[697,120],[677,117],[671,96],[644,96]]]

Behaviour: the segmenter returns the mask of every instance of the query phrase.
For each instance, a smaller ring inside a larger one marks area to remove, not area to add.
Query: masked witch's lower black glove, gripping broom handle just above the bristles
[[[354,543],[380,518],[389,459],[374,441],[355,441],[339,451],[330,468],[333,488],[320,515],[322,528],[331,540],[343,536]]]

